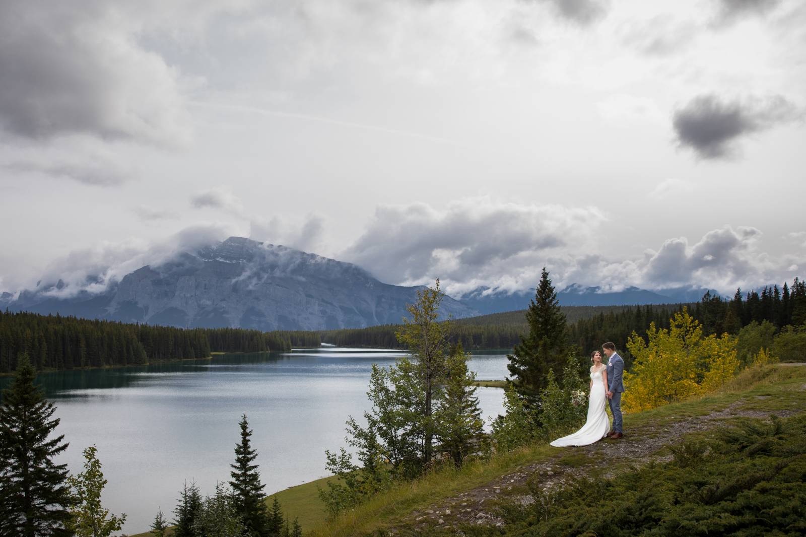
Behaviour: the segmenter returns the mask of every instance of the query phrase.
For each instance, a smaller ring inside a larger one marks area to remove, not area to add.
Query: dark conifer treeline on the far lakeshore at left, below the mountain
[[[0,311],[0,373],[23,352],[37,370],[146,364],[204,358],[210,352],[290,350],[296,332],[239,328],[176,328]]]

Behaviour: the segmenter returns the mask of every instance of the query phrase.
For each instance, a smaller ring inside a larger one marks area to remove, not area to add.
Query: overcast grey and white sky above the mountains
[[[250,236],[383,281],[806,275],[800,0],[0,3],[0,290]]]

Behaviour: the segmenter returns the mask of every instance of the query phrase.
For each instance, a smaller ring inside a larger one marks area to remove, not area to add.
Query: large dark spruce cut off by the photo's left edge
[[[0,405],[0,535],[73,535],[67,464],[53,464],[68,446],[64,435],[52,437],[56,407],[34,385],[27,352],[17,364]]]

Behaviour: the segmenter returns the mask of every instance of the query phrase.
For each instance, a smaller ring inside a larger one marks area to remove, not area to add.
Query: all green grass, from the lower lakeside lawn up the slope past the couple
[[[627,414],[625,428],[635,431],[635,435],[653,437],[670,423],[725,410],[734,404],[738,410],[802,412],[806,410],[804,385],[806,367],[766,366],[747,369],[717,393],[638,414]],[[524,464],[549,460],[556,456],[554,448],[546,444],[536,444],[492,456],[488,461],[472,461],[458,470],[442,468],[418,480],[398,484],[335,521],[326,520],[326,512],[317,489],[317,485],[323,487],[325,481],[333,477],[281,490],[276,493],[276,497],[292,519],[299,519],[305,535],[367,535],[390,526],[413,510],[425,509],[442,498],[484,485],[496,477],[516,471]],[[584,460],[573,454],[563,456],[557,462],[571,468],[584,466]],[[268,501],[271,502],[272,497]],[[132,537],[148,535],[145,533]]]

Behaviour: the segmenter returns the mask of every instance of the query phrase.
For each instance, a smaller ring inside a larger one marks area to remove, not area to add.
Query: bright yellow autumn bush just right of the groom
[[[645,340],[633,332],[627,343],[634,363],[624,374],[626,412],[650,410],[717,389],[739,366],[735,339],[727,334],[703,337],[700,323],[685,308],[671,318],[668,330],[652,323],[646,335]]]

